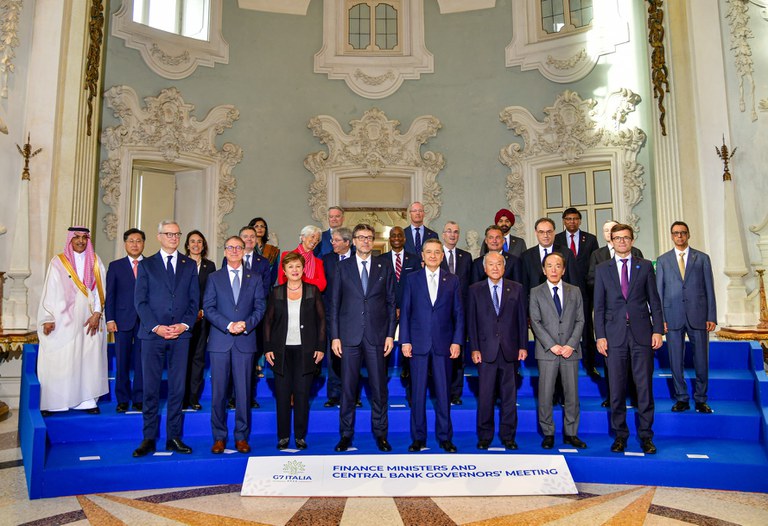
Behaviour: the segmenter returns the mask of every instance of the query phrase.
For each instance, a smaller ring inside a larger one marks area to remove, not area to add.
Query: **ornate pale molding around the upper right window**
[[[629,24],[619,14],[618,0],[603,0],[594,8],[591,29],[542,37],[538,28],[540,0],[512,2],[512,41],[506,49],[507,67],[538,69],[552,82],[569,83],[586,77],[601,56],[629,42]]]

